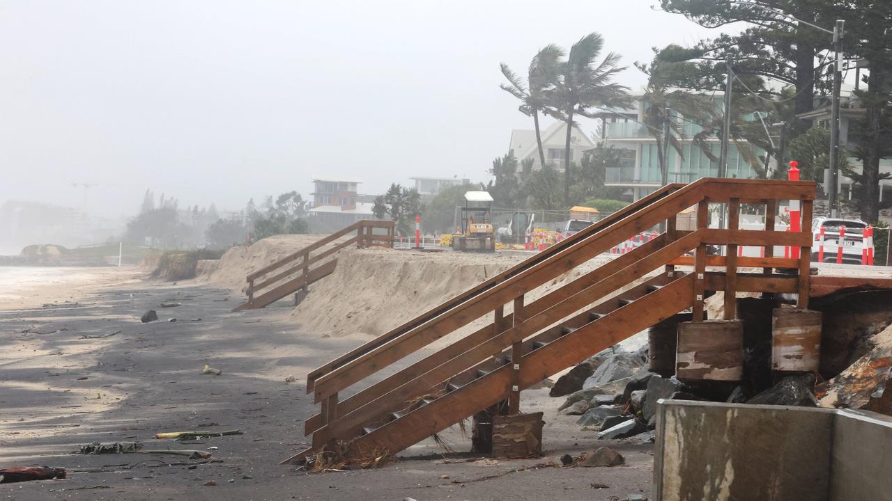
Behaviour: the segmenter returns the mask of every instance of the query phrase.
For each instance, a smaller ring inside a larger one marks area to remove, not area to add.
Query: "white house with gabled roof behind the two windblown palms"
[[[541,124],[540,124],[541,125]],[[564,147],[566,145],[566,124],[556,121],[541,129],[542,150],[545,161],[563,171]],[[586,136],[579,126],[574,126],[570,136],[570,161],[579,162],[582,153],[595,147],[595,142]],[[511,131],[511,144],[508,151],[514,153],[518,162],[533,159],[533,169],[540,169],[539,146],[536,144],[536,131],[516,128]]]

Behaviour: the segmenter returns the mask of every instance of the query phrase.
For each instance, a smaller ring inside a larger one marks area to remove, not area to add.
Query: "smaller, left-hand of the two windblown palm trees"
[[[508,84],[500,84],[502,90],[515,96],[521,101],[520,112],[528,117],[533,117],[533,125],[536,129],[536,144],[539,145],[539,160],[545,167],[545,152],[542,150],[542,136],[539,132],[539,112],[552,114],[548,106],[548,91],[554,85],[558,74],[558,63],[564,57],[564,51],[558,45],[545,45],[533,57],[530,68],[527,71],[526,85],[517,77],[514,71],[508,68],[508,64],[500,62],[502,75],[508,79]]]

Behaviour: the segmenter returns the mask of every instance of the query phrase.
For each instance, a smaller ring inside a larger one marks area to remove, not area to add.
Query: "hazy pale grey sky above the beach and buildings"
[[[630,66],[715,32],[655,0],[0,1],[0,204],[240,209],[310,177],[481,180],[532,128],[499,89],[598,31]],[[583,123],[583,127],[587,124]]]

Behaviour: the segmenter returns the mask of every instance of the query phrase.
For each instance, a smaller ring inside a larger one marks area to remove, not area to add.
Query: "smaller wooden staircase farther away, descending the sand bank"
[[[393,226],[392,221],[362,220],[293,252],[268,267],[260,268],[245,277],[248,282],[248,300],[233,311],[266,308],[277,300],[306,288],[310,283],[331,275],[337,266],[335,254],[354,243],[359,249],[370,246],[392,248]],[[376,229],[384,232],[376,233]],[[348,236],[350,238],[344,240]]]

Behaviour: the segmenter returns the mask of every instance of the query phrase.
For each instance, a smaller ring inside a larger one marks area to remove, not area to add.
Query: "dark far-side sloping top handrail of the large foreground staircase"
[[[698,181],[698,183],[699,183],[699,181]],[[667,195],[669,193],[673,193],[674,191],[677,191],[685,186],[687,186],[687,185],[683,185],[683,184],[665,185],[664,187],[658,189],[657,191],[655,191],[653,193],[649,193],[647,196],[642,197],[640,200],[627,205],[623,209],[617,210],[616,212],[607,216],[606,218],[603,218],[603,219],[595,222],[591,226],[583,228],[581,231],[577,232],[576,234],[571,235],[569,238],[566,238],[566,239],[562,240],[561,242],[558,242],[557,244],[549,247],[548,249],[537,253],[530,259],[526,259],[523,262],[518,263],[515,266],[508,268],[507,270],[500,273],[499,275],[492,276],[490,279],[485,280],[483,283],[479,283],[479,284],[475,285],[474,287],[472,287],[471,289],[468,289],[466,292],[459,294],[455,298],[445,301],[442,304],[437,305],[436,307],[431,308],[430,310],[426,311],[422,315],[419,315],[416,318],[409,320],[409,322],[406,322],[405,324],[402,324],[399,327],[396,327],[387,333],[377,336],[374,340],[368,341],[356,349],[352,349],[350,352],[344,354],[341,357],[335,358],[334,360],[328,362],[326,365],[319,366],[317,369],[314,369],[313,371],[310,372],[310,374],[307,375],[307,393],[310,393],[311,391],[314,390],[315,382],[318,380],[318,378],[322,377],[323,375],[334,371],[338,367],[341,367],[341,366],[351,362],[352,360],[354,360],[357,357],[361,357],[361,356],[367,354],[372,349],[376,349],[377,347],[383,345],[384,343],[386,343],[388,341],[392,341],[392,339],[401,336],[402,334],[408,332],[410,329],[417,327],[420,324],[425,323],[426,321],[430,320],[431,318],[434,318],[435,316],[441,315],[443,312],[448,311],[450,308],[455,307],[456,305],[460,304],[461,302],[469,300],[470,298],[473,298],[477,294],[481,294],[483,292],[490,290],[496,284],[504,282],[505,280],[508,280],[508,278],[511,278],[514,275],[524,272],[524,270],[528,269],[529,267],[533,267],[533,266],[539,264],[541,261],[548,259],[549,257],[557,254],[561,250],[565,250],[567,247],[573,245],[575,242],[580,242],[583,239],[587,238],[589,235],[599,232],[601,229],[610,225],[611,223],[615,222],[616,220],[618,220],[620,218],[624,218],[628,214],[631,214],[632,212],[635,212],[643,207],[647,207],[648,204],[650,204],[651,202],[657,201],[658,199],[665,197],[665,195]]]

